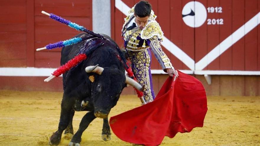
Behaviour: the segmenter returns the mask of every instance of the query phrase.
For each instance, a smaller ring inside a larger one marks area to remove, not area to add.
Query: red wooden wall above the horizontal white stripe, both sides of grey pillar
[[[123,0],[129,7],[139,0]],[[260,0],[198,0],[207,7],[222,7],[222,13],[207,13],[207,19],[224,19],[223,25],[208,25],[207,21],[200,27],[187,26],[181,17],[182,9],[189,0],[150,0],[157,21],[163,29],[165,37],[181,48],[195,60],[202,59],[209,51],[219,45],[229,35],[244,25],[260,12]],[[115,1],[112,1],[112,5]],[[34,21],[28,11],[34,5]],[[58,67],[60,48],[41,52],[35,49],[48,43],[66,40],[78,34],[76,30],[55,22],[41,14],[41,10],[60,15],[66,19],[92,29],[92,1],[17,1],[4,0],[0,6],[0,66],[37,66]],[[112,37],[120,47],[123,47],[121,28],[126,17],[112,6]],[[10,19],[12,18],[12,19]],[[116,18],[116,19],[115,19]],[[32,24],[34,24],[32,26]],[[32,27],[31,27],[32,26]],[[34,31],[34,33],[32,33]],[[260,70],[260,27],[251,30],[222,55],[213,60],[204,70]],[[15,38],[15,39],[14,39]],[[34,41],[34,46],[30,45]],[[189,69],[168,50],[163,48],[177,69]],[[47,56],[52,56],[49,59]],[[35,60],[35,65],[34,61]],[[32,63],[33,62],[33,63]],[[8,65],[10,63],[10,65]],[[47,64],[46,64],[47,63]],[[57,64],[58,63],[58,64]],[[42,66],[43,65],[43,66]],[[152,56],[152,69],[161,69]]]

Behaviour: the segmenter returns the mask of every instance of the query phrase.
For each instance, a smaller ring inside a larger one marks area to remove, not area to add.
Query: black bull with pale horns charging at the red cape
[[[82,37],[83,35],[92,37],[92,40],[98,39],[87,33],[79,34],[76,37]],[[79,145],[83,131],[96,117],[103,118],[102,139],[104,141],[110,140],[111,132],[108,125],[108,114],[111,108],[116,105],[126,83],[140,87],[137,82],[133,82],[129,77],[125,76],[124,65],[117,57],[119,52],[115,48],[116,43],[108,36],[105,37],[109,43],[97,47],[87,56],[86,60],[63,74],[64,93],[61,102],[61,116],[58,130],[50,137],[50,145],[59,144],[64,130],[65,134],[74,134],[72,119],[75,111],[89,112],[82,118],[78,131],[69,143],[70,146]],[[80,52],[82,46],[86,47],[88,43],[91,43],[91,41],[82,41],[75,45],[63,47],[61,65],[74,58]],[[97,64],[99,64],[99,67],[94,67],[95,69],[90,67]],[[86,71],[89,73],[86,73],[85,68],[88,68]],[[131,83],[128,80],[131,80]],[[139,88],[139,90],[142,89]]]

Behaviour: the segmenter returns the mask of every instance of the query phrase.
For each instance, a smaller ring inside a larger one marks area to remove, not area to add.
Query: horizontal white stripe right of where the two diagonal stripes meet
[[[260,75],[260,71],[240,70],[195,70],[195,75]]]

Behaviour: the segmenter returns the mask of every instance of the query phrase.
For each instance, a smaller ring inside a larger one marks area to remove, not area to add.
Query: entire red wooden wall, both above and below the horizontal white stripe
[[[129,7],[139,0],[123,0]],[[189,55],[195,63],[202,59],[225,38],[260,12],[260,0],[197,0],[207,7],[221,6],[223,13],[207,13],[207,19],[224,19],[223,25],[187,26],[182,9],[190,0],[149,0],[165,37]],[[48,43],[66,40],[79,32],[41,14],[44,10],[78,23],[92,30],[92,0],[1,0],[0,5],[0,67],[57,68],[60,65],[60,48],[36,52]],[[126,16],[115,8],[111,0],[112,37],[123,47],[121,29]],[[260,70],[260,26],[216,58],[204,70]],[[176,69],[189,68],[163,48]],[[161,69],[155,57],[152,69]],[[208,85],[202,81],[207,95],[260,95],[260,76],[212,76]],[[62,91],[61,77],[49,83],[46,77],[0,76],[0,89],[22,91]],[[158,93],[167,75],[153,75],[153,86]],[[134,94],[131,87],[123,94]]]

